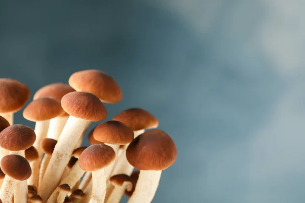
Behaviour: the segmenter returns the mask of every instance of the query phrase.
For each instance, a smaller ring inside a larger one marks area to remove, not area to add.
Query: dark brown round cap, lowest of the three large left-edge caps
[[[32,175],[31,166],[29,166],[28,161],[19,155],[9,154],[2,158],[1,160],[2,171],[9,177],[24,181]]]

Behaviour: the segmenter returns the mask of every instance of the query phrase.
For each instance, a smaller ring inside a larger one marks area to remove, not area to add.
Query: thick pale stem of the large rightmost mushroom
[[[136,184],[135,191],[130,197],[128,203],[141,202],[149,203],[153,200],[162,171],[140,171],[139,179]]]

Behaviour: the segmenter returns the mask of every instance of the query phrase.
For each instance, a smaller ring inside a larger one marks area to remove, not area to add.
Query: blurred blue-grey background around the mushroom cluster
[[[5,2],[0,77],[33,96],[99,69],[124,93],[107,119],[159,119],[178,157],[153,202],[305,199],[304,1]]]

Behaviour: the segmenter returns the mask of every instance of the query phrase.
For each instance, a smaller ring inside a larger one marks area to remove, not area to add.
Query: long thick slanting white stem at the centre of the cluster
[[[58,185],[82,132],[90,121],[69,116],[59,136],[45,175],[42,179],[42,199],[48,199]],[[45,201],[44,201],[45,202]]]

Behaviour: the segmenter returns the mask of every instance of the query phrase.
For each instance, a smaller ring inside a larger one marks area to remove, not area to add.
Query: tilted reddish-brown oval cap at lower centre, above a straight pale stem
[[[114,150],[108,145],[91,145],[85,149],[78,161],[83,171],[98,171],[109,165],[115,159]]]

